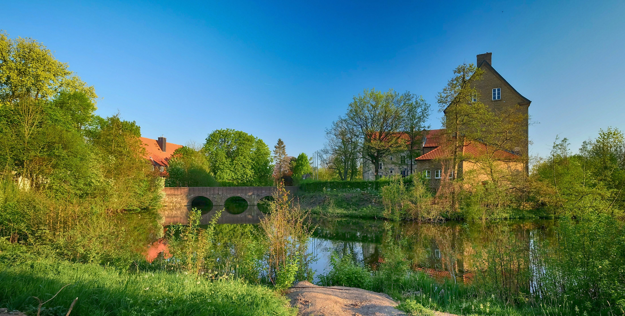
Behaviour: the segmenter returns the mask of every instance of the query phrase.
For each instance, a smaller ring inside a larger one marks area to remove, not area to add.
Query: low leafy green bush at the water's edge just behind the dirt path
[[[354,262],[352,255],[344,255],[339,258],[337,254],[330,257],[332,270],[326,275],[319,277],[323,286],[342,285],[345,287],[358,287],[369,289],[371,287],[371,272],[362,265]]]

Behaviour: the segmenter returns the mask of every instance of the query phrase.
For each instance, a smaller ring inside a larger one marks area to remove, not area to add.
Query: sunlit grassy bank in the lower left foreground
[[[0,265],[0,308],[42,315],[295,315],[267,287],[236,280],[211,282],[191,274],[126,272],[94,264],[29,262]]]

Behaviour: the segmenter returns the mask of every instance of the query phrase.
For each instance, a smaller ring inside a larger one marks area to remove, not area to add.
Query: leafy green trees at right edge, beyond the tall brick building
[[[622,139],[618,129],[600,130],[596,139],[582,144],[579,154],[572,154],[568,140],[556,138],[549,159],[532,168],[534,199],[554,215],[624,216]]]

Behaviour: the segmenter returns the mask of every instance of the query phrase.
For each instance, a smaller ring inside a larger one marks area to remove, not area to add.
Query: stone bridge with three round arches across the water
[[[217,210],[224,210],[224,204],[230,197],[241,197],[247,202],[247,209],[242,214],[227,214],[226,210],[218,222],[252,222],[262,216],[257,208],[258,201],[264,197],[271,197],[277,187],[166,187],[163,189],[165,197],[163,207],[159,212],[163,216],[164,224],[187,224],[187,214],[191,210],[194,200],[199,197],[209,199],[212,210],[207,214],[202,212],[202,224],[207,224]],[[299,187],[285,187],[289,194],[297,192]]]

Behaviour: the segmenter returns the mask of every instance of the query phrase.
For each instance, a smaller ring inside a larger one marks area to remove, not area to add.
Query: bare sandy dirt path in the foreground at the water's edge
[[[301,316],[406,316],[389,295],[355,287],[320,287],[307,281],[287,290]],[[456,316],[434,312],[436,316]]]

